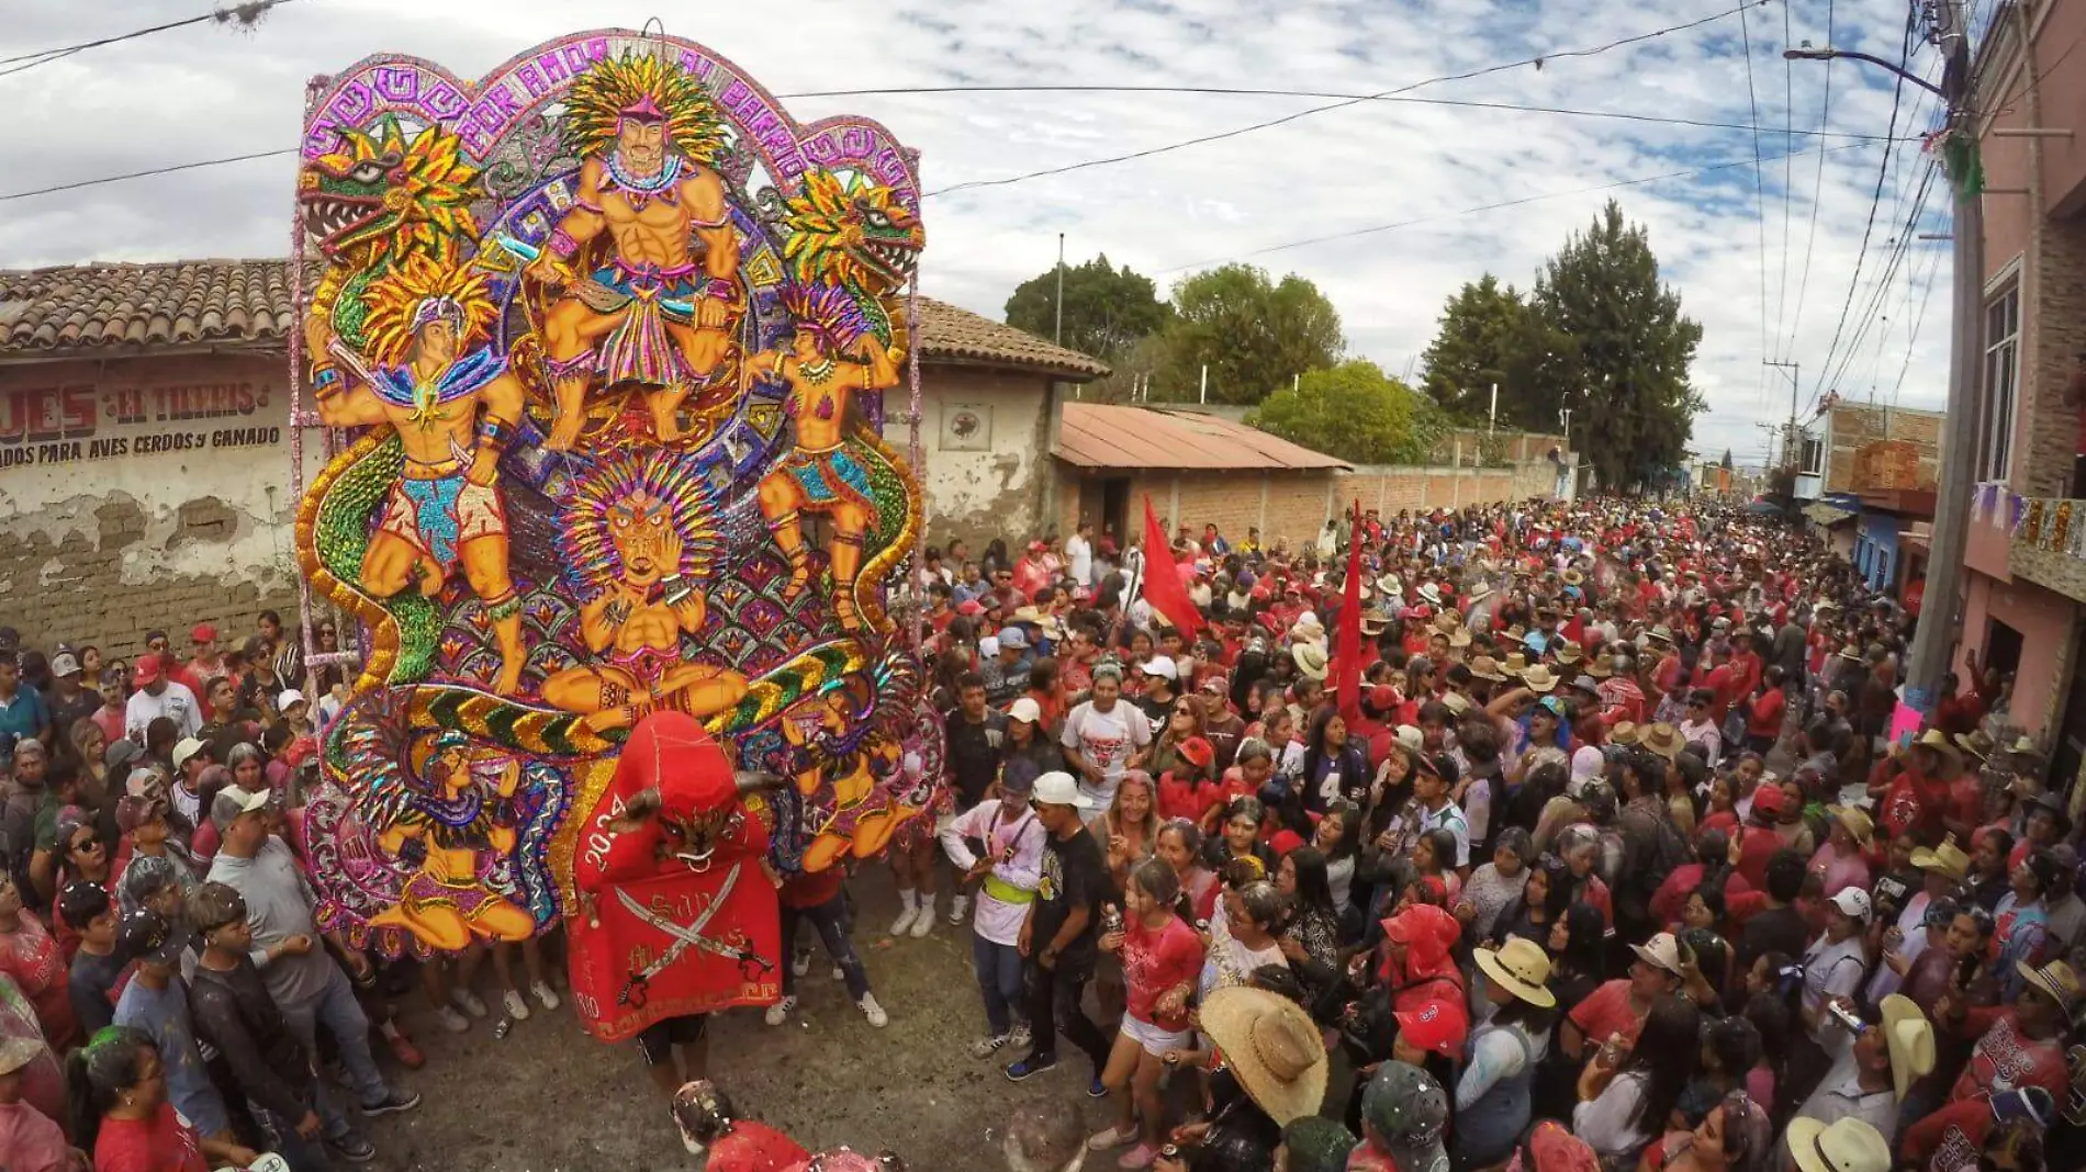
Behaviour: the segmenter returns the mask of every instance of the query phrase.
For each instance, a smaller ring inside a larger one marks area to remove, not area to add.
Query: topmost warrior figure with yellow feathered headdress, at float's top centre
[[[699,79],[626,52],[574,83],[563,138],[582,156],[578,192],[528,267],[563,290],[542,321],[555,405],[544,446],[572,450],[588,388],[617,384],[647,388],[653,436],[674,442],[690,392],[734,390],[715,377],[745,313],[738,240],[711,169],[724,123]]]

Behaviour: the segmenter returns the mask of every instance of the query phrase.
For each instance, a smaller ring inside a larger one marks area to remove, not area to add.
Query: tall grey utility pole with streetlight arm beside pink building
[[[1838,50],[1784,50],[1786,58],[1852,56],[1884,65],[1913,86],[1936,94],[1948,104],[1948,131],[1965,136],[1973,158],[1978,119],[1971,102],[1969,10],[1965,0],[1946,0],[1925,8],[1932,21],[1927,40],[1942,52],[1942,83],[1932,86],[1896,65],[1873,56]],[[1984,321],[1984,198],[1969,175],[1948,175],[1955,190],[1952,261],[1955,307],[1948,329],[1948,436],[1942,444],[1940,492],[1934,500],[1934,542],[1927,555],[1927,594],[1913,632],[1913,653],[1905,672],[1905,703],[1921,715],[1934,711],[1936,692],[1948,661],[1955,657],[1957,594],[1963,588],[1963,544],[1969,536],[1969,490],[1978,480],[1971,467],[1978,459],[1978,329]]]

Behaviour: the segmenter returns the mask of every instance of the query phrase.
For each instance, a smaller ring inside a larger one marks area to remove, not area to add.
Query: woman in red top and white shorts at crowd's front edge
[[[1108,1051],[1101,1084],[1116,1099],[1116,1126],[1093,1137],[1091,1151],[1137,1141],[1124,1168],[1143,1168],[1160,1151],[1160,1076],[1166,1051],[1193,1049],[1187,999],[1202,974],[1202,938],[1174,915],[1181,878],[1160,859],[1145,859],[1122,890],[1120,918],[1103,928],[1101,951],[1122,957],[1122,1030]],[[1114,911],[1114,909],[1110,909]],[[1139,1118],[1143,1128],[1139,1130]]]

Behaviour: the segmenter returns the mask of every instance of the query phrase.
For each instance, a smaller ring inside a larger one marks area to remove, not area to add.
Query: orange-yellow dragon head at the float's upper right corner
[[[803,175],[803,192],[782,200],[782,259],[803,284],[834,284],[887,296],[912,279],[926,234],[897,192],[826,169]]]

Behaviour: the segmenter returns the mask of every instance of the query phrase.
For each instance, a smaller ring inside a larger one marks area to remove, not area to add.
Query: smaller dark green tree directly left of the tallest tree
[[[1527,298],[1485,273],[1441,309],[1441,325],[1421,355],[1421,388],[1452,417],[1483,423],[1498,386],[1500,423],[1542,432],[1556,423],[1542,384],[1556,346]]]

